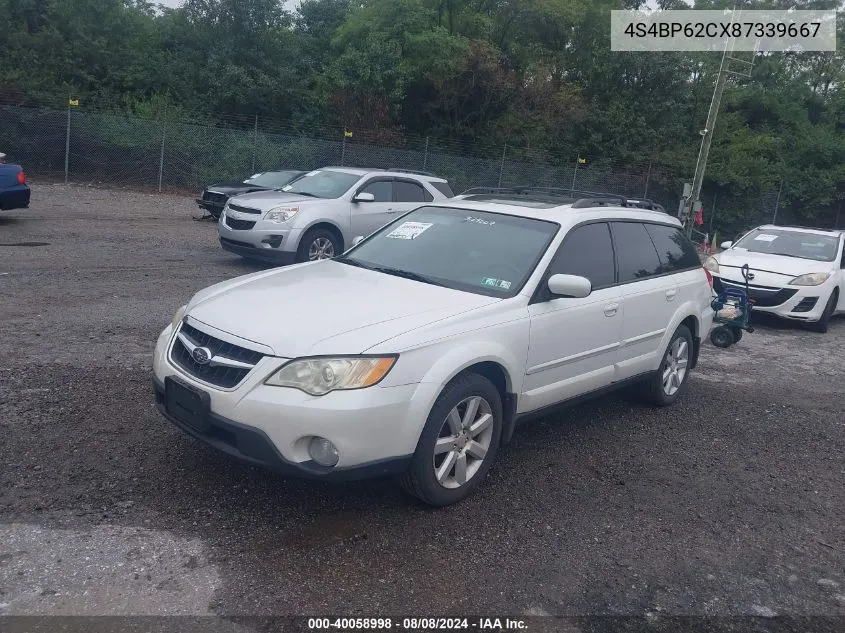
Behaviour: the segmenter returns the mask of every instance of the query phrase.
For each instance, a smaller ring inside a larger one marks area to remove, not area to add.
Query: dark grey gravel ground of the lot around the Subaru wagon
[[[435,511],[389,481],[240,465],[157,414],[157,333],[191,293],[256,270],[198,212],[36,184],[0,216],[0,614],[845,627],[845,319],[708,344],[669,410],[620,395],[526,424],[478,494]]]

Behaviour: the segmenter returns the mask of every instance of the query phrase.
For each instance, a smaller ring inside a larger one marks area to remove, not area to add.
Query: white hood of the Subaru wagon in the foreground
[[[359,354],[435,321],[501,301],[331,260],[206,288],[187,314],[277,356]],[[397,352],[402,350],[396,350]]]

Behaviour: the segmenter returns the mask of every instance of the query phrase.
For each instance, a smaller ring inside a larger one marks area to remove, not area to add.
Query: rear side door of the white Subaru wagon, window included
[[[675,276],[664,272],[643,222],[618,220],[610,227],[625,305],[619,347],[619,377],[624,379],[659,367],[679,289]]]

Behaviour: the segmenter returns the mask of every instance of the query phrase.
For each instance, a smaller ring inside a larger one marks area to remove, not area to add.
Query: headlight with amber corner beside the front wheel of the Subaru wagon
[[[396,356],[349,356],[302,358],[272,374],[265,384],[293,387],[312,396],[323,396],[338,389],[372,387],[387,375]]]

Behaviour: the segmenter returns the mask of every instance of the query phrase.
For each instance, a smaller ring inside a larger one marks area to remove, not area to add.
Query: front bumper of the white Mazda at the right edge
[[[818,321],[832,292],[831,281],[820,286],[759,287],[749,285],[748,295],[752,310],[768,312],[793,321]],[[745,282],[713,276],[713,289],[745,290]]]

